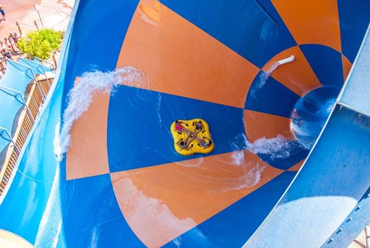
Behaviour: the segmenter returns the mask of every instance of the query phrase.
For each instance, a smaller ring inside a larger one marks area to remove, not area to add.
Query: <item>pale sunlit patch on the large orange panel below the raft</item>
[[[187,216],[176,216],[167,203],[148,196],[128,177],[113,178],[119,188],[119,204],[131,229],[147,247],[161,247],[196,226]],[[142,225],[146,220],[150,225]]]

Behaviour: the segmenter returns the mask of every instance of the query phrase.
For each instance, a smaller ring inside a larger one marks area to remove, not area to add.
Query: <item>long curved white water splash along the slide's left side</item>
[[[69,91],[60,137],[56,136],[56,139],[59,140],[54,140],[54,151],[58,161],[63,159],[71,144],[70,132],[73,123],[89,109],[94,93],[114,93],[115,87],[119,84],[149,89],[148,78],[135,67],[122,67],[115,71],[92,71],[82,74],[80,80]]]

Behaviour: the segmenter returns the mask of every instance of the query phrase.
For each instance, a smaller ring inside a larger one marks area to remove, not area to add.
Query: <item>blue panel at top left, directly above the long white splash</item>
[[[73,59],[65,66],[65,91],[73,87],[76,76],[86,71],[115,69],[138,4],[139,0],[80,1],[68,55]],[[119,28],[109,23],[119,23]],[[64,95],[65,102],[67,92]]]

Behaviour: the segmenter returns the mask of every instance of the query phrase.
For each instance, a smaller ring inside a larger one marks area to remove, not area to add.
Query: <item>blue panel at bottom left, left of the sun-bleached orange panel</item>
[[[59,243],[71,248],[90,247],[91,242],[96,247],[145,247],[119,209],[109,174],[65,181],[62,192],[68,194],[61,197],[64,232]]]

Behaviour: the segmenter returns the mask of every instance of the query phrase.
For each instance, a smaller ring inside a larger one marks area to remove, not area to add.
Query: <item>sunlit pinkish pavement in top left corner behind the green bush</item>
[[[75,0],[8,0],[0,1],[5,9],[6,21],[0,23],[0,38],[9,36],[9,32],[18,31],[16,21],[21,25],[23,34],[36,30],[34,21],[38,27],[42,27],[34,4],[38,9],[45,27],[54,30],[65,30],[68,24],[69,15]]]

